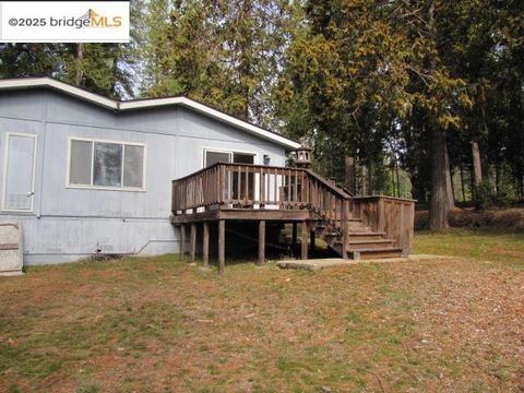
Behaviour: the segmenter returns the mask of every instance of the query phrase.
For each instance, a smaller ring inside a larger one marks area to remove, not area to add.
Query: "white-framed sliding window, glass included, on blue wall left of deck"
[[[145,190],[142,143],[70,138],[68,187]]]

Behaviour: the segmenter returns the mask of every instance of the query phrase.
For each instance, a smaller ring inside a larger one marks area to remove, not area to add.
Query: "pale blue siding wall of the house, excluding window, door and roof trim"
[[[24,263],[58,263],[110,253],[178,252],[169,224],[170,183],[203,166],[203,150],[251,152],[285,164],[284,147],[183,107],[111,112],[49,90],[0,92],[0,194],[7,134],[37,135],[34,213],[0,212],[23,226]],[[145,191],[68,188],[70,138],[146,146]]]

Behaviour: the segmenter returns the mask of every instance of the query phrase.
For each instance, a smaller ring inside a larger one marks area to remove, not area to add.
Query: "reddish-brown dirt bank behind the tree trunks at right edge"
[[[524,209],[504,209],[477,212],[455,209],[448,214],[450,226],[457,228],[524,229]],[[415,228],[427,228],[428,211],[415,212]]]

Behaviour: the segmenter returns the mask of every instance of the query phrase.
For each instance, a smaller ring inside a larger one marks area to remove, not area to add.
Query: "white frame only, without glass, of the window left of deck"
[[[70,171],[71,171],[71,142],[72,141],[83,141],[83,142],[92,142],[91,144],[91,184],[72,184],[70,182]],[[119,144],[122,146],[122,171],[121,171],[121,187],[107,187],[107,186],[95,186],[93,184],[93,171],[94,165],[93,160],[95,159],[95,143],[114,143]],[[123,186],[123,165],[124,165],[124,152],[126,145],[130,146],[140,146],[144,148],[144,157],[142,162],[142,187],[124,187]],[[66,170],[66,188],[68,189],[80,189],[80,190],[106,190],[106,191],[134,191],[134,192],[145,192],[146,189],[146,178],[147,178],[147,145],[141,142],[127,142],[127,141],[115,141],[115,140],[104,140],[98,138],[82,138],[82,136],[68,136],[68,167]]]

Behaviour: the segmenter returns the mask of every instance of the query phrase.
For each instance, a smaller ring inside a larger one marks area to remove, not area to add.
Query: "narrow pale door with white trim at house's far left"
[[[8,134],[3,210],[32,212],[36,135]]]

